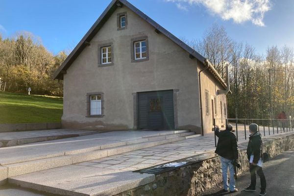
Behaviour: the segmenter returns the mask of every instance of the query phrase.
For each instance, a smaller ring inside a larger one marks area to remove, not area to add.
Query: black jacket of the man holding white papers
[[[253,154],[253,163],[257,164],[261,157],[262,140],[260,133],[256,132],[250,135],[247,146],[247,158],[250,160],[250,156]]]

